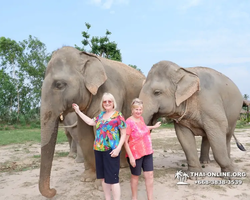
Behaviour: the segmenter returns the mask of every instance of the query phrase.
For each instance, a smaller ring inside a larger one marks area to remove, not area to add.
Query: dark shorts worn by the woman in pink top
[[[129,158],[127,158],[127,159],[128,159],[131,174],[133,174],[135,176],[140,176],[141,175],[141,169],[143,169],[144,172],[154,170],[153,154],[149,154],[149,155],[143,156],[143,157],[141,157],[139,159],[136,159],[135,160],[135,163],[136,163],[135,167],[132,167],[132,165],[129,162]]]

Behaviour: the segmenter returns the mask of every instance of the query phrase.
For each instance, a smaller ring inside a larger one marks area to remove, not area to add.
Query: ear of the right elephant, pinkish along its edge
[[[179,68],[177,70],[176,83],[175,102],[177,106],[191,97],[196,91],[200,90],[199,77],[195,73],[184,68]]]

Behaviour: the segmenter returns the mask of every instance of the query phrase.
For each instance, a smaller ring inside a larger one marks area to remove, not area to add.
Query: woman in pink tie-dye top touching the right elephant
[[[125,149],[131,170],[132,200],[137,200],[137,186],[141,169],[145,177],[148,200],[153,199],[153,148],[150,130],[158,128],[161,123],[147,126],[141,116],[143,103],[136,98],[131,103],[132,116],[126,120],[127,130]]]

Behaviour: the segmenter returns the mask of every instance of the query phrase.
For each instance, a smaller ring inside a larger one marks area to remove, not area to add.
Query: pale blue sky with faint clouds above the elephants
[[[0,37],[37,37],[52,52],[112,32],[122,61],[145,75],[170,60],[204,66],[231,78],[250,96],[249,0],[2,0]]]

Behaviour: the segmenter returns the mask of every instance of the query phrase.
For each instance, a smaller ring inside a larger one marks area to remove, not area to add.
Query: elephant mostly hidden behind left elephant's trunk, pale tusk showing
[[[62,117],[63,118],[63,117]],[[79,144],[79,140],[77,137],[77,116],[76,113],[71,112],[68,113],[64,119],[61,119],[62,123],[64,126],[63,127],[65,130],[65,135],[68,138],[69,142],[69,157],[75,157],[75,162],[76,163],[83,163],[83,154],[82,154],[82,149]]]

